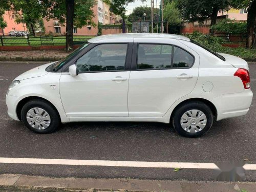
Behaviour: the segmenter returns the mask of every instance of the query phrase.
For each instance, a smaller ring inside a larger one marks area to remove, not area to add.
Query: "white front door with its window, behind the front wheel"
[[[128,116],[128,45],[99,44],[77,59],[77,76],[62,73],[60,96],[68,117]]]

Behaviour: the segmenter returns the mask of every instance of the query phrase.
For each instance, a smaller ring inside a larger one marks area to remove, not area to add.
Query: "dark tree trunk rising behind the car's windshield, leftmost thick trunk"
[[[74,8],[75,3],[74,0],[66,0],[66,51],[70,51],[74,49],[74,41],[73,41],[73,23],[74,23]]]

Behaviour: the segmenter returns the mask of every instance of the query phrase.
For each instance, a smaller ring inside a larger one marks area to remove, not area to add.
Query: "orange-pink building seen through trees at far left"
[[[27,31],[26,24],[17,24],[15,22],[15,15],[12,11],[5,12],[4,20],[7,23],[7,27],[0,29],[0,34],[8,35],[10,31]]]

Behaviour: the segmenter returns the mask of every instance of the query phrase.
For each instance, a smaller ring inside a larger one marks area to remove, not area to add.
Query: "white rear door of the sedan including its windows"
[[[129,80],[129,117],[162,117],[193,91],[199,55],[177,39],[135,38]]]

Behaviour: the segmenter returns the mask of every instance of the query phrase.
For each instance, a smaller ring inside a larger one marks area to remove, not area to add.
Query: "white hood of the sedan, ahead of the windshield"
[[[40,76],[46,75],[47,73],[49,73],[49,72],[46,71],[46,68],[48,66],[52,65],[52,63],[53,62],[47,63],[45,65],[33,68],[33,69],[29,70],[29,71],[26,71],[25,73],[17,76],[15,78],[15,80],[20,80],[21,81],[21,80],[24,80],[24,79],[30,79],[30,78],[40,77]]]

